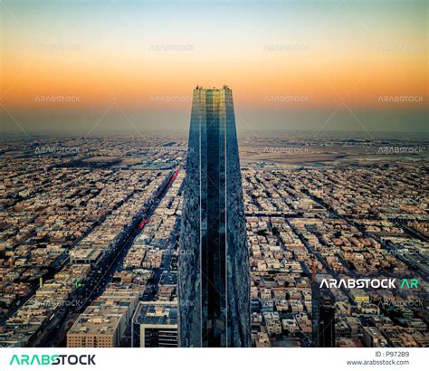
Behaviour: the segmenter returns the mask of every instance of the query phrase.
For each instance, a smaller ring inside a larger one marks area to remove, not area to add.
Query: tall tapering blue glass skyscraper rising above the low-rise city
[[[196,87],[179,254],[181,347],[250,347],[250,278],[233,93]]]

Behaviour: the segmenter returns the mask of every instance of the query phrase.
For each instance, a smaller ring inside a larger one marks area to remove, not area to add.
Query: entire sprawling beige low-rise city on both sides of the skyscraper
[[[350,136],[240,141],[253,347],[321,346],[312,267],[396,280],[323,287],[335,347],[429,345],[429,143]],[[0,346],[176,347],[186,138],[0,144]]]

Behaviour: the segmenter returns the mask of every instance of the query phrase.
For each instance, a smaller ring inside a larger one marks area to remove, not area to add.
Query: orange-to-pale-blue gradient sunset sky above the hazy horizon
[[[243,129],[427,131],[423,0],[2,3],[5,131],[187,129],[224,83]]]

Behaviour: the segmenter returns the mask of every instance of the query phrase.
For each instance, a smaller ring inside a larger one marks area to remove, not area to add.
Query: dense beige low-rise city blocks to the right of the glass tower
[[[312,344],[313,319],[318,316],[312,311],[322,302],[312,300],[318,298],[310,281],[314,266],[318,280],[415,278],[419,282],[418,288],[402,290],[399,284],[390,290],[329,288],[335,298],[334,303],[327,301],[327,309],[329,317],[335,309],[336,347],[425,347],[427,167],[418,156],[404,158],[403,164],[385,155],[377,157],[377,141],[364,146],[367,155],[356,155],[362,145],[344,148],[338,137],[332,139],[335,144],[329,138],[319,139],[325,154],[328,145],[349,153],[337,164],[329,160],[314,166],[311,157],[321,147],[310,147],[309,143],[316,146],[314,138],[301,144],[297,142],[302,139],[294,138],[291,147],[296,151],[290,151],[282,164],[275,163],[277,152],[273,152],[274,161],[253,162],[243,170],[253,343],[319,346],[319,340]],[[282,141],[267,140],[278,147]],[[266,156],[267,151],[262,151]],[[300,161],[308,158],[308,165],[296,165],[294,153]],[[377,329],[375,341],[364,337],[364,333],[376,334],[368,328]]]

